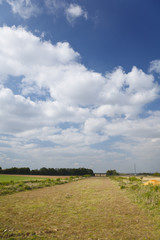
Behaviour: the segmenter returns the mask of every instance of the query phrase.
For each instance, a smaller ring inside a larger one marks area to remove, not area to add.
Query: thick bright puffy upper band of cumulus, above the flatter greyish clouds
[[[97,117],[132,118],[159,95],[154,77],[136,67],[129,73],[118,67],[103,76],[82,65],[67,42],[53,45],[22,27],[3,27],[0,35],[1,82],[5,76],[22,76],[25,96],[48,93],[54,104],[85,107]]]

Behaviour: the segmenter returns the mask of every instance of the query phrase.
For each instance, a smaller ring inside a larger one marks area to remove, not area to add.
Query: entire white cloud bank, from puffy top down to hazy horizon
[[[96,166],[96,158],[102,165],[106,159],[122,160],[114,146],[129,151],[127,140],[135,149],[142,141],[144,147],[157,146],[160,113],[145,111],[160,92],[152,74],[137,67],[128,73],[117,67],[106,75],[88,70],[69,43],[54,45],[22,27],[1,27],[0,36],[0,158],[8,156],[8,165],[32,152],[30,159],[41,159],[39,166],[45,165],[43,158],[51,166],[53,156],[68,167],[84,164],[86,156],[88,166]],[[18,94],[13,78],[19,81]],[[117,136],[124,144],[93,148]]]

